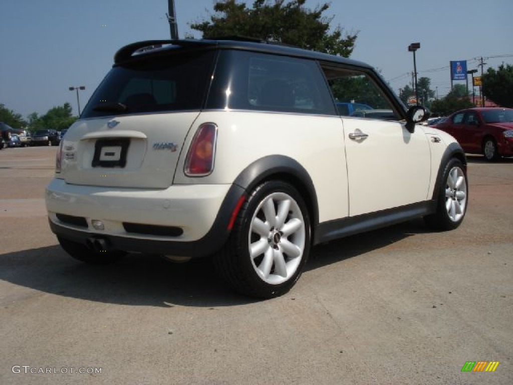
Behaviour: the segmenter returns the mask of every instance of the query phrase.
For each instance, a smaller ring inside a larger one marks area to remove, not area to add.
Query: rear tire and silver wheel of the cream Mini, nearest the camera
[[[299,192],[285,182],[267,181],[244,202],[214,265],[234,290],[278,297],[301,276],[310,236],[308,209]]]

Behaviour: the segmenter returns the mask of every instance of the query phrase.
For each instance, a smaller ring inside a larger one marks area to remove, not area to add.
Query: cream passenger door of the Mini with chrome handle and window
[[[373,108],[365,118],[341,117],[349,216],[427,200],[431,161],[422,128],[410,133],[379,81],[367,73],[329,68],[325,74],[336,100],[354,100]]]

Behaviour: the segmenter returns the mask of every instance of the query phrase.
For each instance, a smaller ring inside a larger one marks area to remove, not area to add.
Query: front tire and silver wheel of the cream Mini
[[[444,168],[437,197],[437,211],[424,217],[425,222],[437,230],[453,230],[465,217],[468,202],[468,182],[465,167],[452,158]]]

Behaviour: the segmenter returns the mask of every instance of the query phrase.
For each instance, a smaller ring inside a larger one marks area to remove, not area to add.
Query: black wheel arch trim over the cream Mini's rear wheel
[[[260,158],[247,166],[233,183],[249,193],[259,184],[271,179],[287,182],[302,193],[313,231],[319,224],[317,193],[308,171],[298,161],[284,155]]]

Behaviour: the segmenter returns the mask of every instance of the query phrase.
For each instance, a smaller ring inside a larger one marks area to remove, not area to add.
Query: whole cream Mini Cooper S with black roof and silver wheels
[[[349,114],[348,103],[366,109]],[[312,245],[418,217],[460,225],[466,158],[448,134],[416,125],[425,115],[339,56],[134,43],[61,141],[50,227],[84,262],[212,256],[235,290],[279,296]]]

